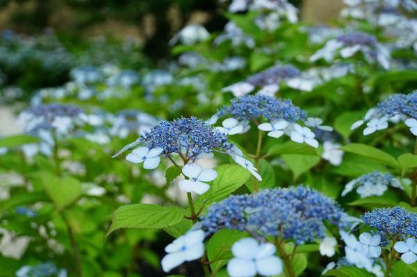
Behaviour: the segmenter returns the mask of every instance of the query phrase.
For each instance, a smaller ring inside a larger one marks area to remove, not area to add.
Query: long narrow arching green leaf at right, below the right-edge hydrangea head
[[[389,153],[386,153],[382,150],[376,149],[373,146],[368,146],[366,144],[352,143],[342,146],[341,149],[346,152],[355,153],[360,156],[365,156],[371,158],[377,162],[380,162],[384,165],[389,165],[396,169],[400,169],[400,164],[397,160]]]

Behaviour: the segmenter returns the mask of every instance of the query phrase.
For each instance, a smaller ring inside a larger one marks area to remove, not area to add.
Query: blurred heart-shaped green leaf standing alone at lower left
[[[47,171],[40,174],[42,187],[58,210],[71,205],[81,196],[81,183],[73,177],[58,177]]]

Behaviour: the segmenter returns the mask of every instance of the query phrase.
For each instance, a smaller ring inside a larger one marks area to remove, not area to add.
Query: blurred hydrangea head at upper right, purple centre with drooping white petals
[[[384,69],[389,69],[389,51],[377,42],[375,37],[366,33],[346,33],[336,39],[326,42],[325,47],[319,49],[310,57],[311,62],[324,59],[327,62],[335,60],[336,56],[350,58],[356,53],[362,53],[368,62],[379,62]]]

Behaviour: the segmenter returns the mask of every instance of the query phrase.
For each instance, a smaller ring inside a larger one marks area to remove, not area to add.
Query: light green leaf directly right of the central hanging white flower
[[[211,182],[210,189],[200,196],[196,203],[209,205],[218,202],[246,183],[250,172],[239,165],[219,165],[215,168],[218,176]]]

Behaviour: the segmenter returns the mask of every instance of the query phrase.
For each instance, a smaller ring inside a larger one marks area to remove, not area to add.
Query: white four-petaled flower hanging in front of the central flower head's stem
[[[195,192],[204,194],[210,186],[203,182],[210,182],[217,178],[217,172],[214,169],[202,169],[201,165],[193,163],[184,165],[182,172],[189,180],[179,181],[179,188],[183,192]]]

